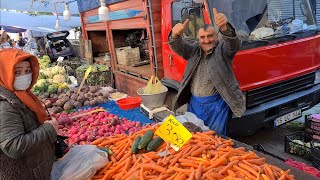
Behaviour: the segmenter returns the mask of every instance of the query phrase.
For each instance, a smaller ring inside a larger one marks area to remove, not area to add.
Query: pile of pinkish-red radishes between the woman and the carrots
[[[68,144],[88,144],[100,137],[133,134],[144,127],[150,126],[150,124],[143,126],[140,122],[120,118],[107,111],[90,113],[97,109],[99,107],[87,110],[80,109],[69,114],[66,112],[57,114],[59,135],[69,137]]]

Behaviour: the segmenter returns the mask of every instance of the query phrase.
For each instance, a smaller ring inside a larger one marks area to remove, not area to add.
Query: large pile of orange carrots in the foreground
[[[267,164],[265,158],[258,157],[253,151],[246,151],[244,147],[233,148],[233,140],[221,138],[214,131],[193,133],[179,151],[169,148],[170,154],[165,157],[158,154],[166,150],[166,143],[157,152],[132,154],[134,139],[156,128],[153,126],[130,136],[115,135],[92,142],[99,147],[108,147],[114,153],[109,157],[110,162],[90,179],[294,179],[290,169],[284,171]]]

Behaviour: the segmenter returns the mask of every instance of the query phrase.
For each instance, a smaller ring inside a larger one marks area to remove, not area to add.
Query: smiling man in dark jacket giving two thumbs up
[[[213,14],[221,41],[214,26],[209,24],[199,29],[198,42],[182,39],[189,19],[176,24],[169,35],[172,50],[188,61],[173,108],[176,110],[189,103],[189,112],[202,119],[210,129],[226,134],[231,111],[238,117],[245,111],[244,96],[232,70],[240,40],[224,14],[216,9]]]

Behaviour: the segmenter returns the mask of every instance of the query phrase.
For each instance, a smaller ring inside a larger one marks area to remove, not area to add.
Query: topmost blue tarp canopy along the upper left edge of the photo
[[[91,1],[91,0],[88,0]],[[37,12],[55,12],[54,4],[58,0],[1,0],[1,8],[8,10],[20,10],[20,11],[37,11]],[[63,1],[60,1],[63,2]],[[79,14],[78,5],[76,1],[66,0],[64,2],[69,3],[69,11],[71,14]],[[63,13],[64,4],[56,3],[56,9],[58,13]],[[1,18],[2,19],[2,18]]]

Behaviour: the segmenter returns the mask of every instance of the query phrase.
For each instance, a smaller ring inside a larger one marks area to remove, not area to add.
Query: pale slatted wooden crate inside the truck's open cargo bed
[[[140,62],[139,47],[131,48],[130,46],[116,49],[116,56],[118,64],[131,66]]]

